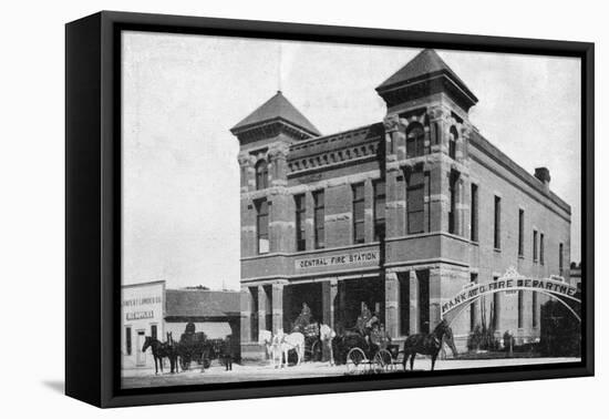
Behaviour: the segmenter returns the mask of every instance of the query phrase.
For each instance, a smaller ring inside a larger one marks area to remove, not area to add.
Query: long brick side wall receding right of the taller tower
[[[547,278],[550,275],[560,275],[568,280],[568,206],[557,202],[549,191],[539,193],[538,188],[529,185],[530,182],[541,185],[540,181],[528,176],[525,182],[507,170],[505,162],[494,160],[484,149],[472,144],[469,155],[471,183],[477,185],[478,195],[478,244],[472,249],[469,264],[472,272],[477,274],[477,280],[491,282],[509,267],[527,277]],[[500,248],[495,248],[496,197],[500,200]],[[520,216],[524,218],[523,228]],[[468,226],[471,228],[471,222]],[[562,268],[559,266],[560,259]],[[493,298],[487,299],[487,306],[491,300]],[[537,304],[534,305],[533,292],[522,292],[520,295],[518,292],[500,293],[495,299],[500,305],[498,331],[503,335],[505,330],[509,330],[517,341],[538,338],[540,305],[546,300],[545,295],[538,294]],[[534,309],[537,311],[535,315]]]

